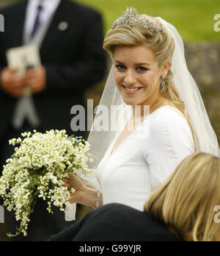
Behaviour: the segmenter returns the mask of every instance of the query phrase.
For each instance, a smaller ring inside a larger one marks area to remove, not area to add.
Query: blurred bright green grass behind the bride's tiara
[[[0,2],[4,0],[0,0]],[[22,0],[7,0],[15,2]],[[174,24],[185,41],[220,40],[215,32],[214,15],[220,13],[219,0],[75,0],[95,7],[103,15],[105,32],[126,7],[135,7],[139,13],[161,16]]]

